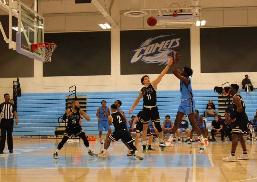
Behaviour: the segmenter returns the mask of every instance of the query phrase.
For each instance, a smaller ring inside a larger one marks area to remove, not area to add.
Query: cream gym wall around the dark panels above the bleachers
[[[103,7],[105,6],[104,1],[99,0],[99,2]],[[27,1],[28,5],[29,3],[30,1]],[[180,3],[181,5],[184,3],[190,4],[190,0],[180,0]],[[141,4],[141,7],[143,7],[143,1]],[[200,5],[203,8],[201,10],[202,19],[206,19],[205,27],[257,26],[256,0],[201,0]],[[156,1],[151,0],[151,3],[150,0],[146,1],[146,8],[156,8]],[[116,0],[111,10],[111,17],[118,24],[118,27],[111,29],[111,76],[109,76],[109,81],[102,82],[106,76],[43,77],[43,63],[35,60],[34,78],[20,78],[22,92],[67,92],[67,88],[72,85],[77,85],[77,92],[139,90],[142,86],[140,83],[141,74],[120,74],[120,30],[189,28],[189,25],[149,27],[146,23],[148,15],[142,18],[125,17],[123,13],[129,9],[129,1]],[[98,23],[105,22],[106,19],[97,11],[93,3],[75,4],[74,0],[39,1],[39,13],[45,17],[45,33],[102,31]],[[151,13],[151,15],[155,14],[157,13]],[[237,83],[241,87],[241,81],[245,74],[249,75],[254,87],[257,87],[257,72],[200,73],[200,28],[190,27],[190,34],[191,68],[194,70],[192,87],[194,90],[213,89],[225,82]],[[3,65],[1,65],[1,68],[3,69]],[[150,74],[150,79],[154,79],[156,76]],[[12,81],[14,79],[0,78],[0,96],[6,92],[12,95]],[[165,75],[158,85],[158,90],[178,89],[179,81],[173,74]]]

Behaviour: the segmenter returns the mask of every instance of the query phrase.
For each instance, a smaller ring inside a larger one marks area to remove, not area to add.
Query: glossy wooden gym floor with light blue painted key
[[[144,154],[144,160],[127,156],[128,149],[121,141],[112,142],[107,159],[87,154],[83,141],[66,143],[53,159],[53,153],[61,139],[15,139],[14,153],[5,144],[0,155],[0,181],[257,181],[257,143],[246,142],[250,160],[223,162],[231,151],[231,142],[210,142],[207,150],[199,154],[199,145],[193,142],[174,143],[160,151],[158,143],[152,143],[155,152]],[[97,139],[90,142],[91,150],[103,149]],[[142,154],[139,142],[138,151]],[[236,158],[242,154],[238,142]]]

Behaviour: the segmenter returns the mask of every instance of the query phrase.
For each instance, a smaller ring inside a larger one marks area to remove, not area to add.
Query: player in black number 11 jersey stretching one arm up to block
[[[158,111],[158,107],[156,106],[156,92],[157,92],[157,85],[162,80],[162,77],[167,73],[168,69],[170,68],[170,65],[173,62],[173,57],[170,58],[168,61],[167,66],[162,70],[161,74],[152,82],[150,82],[149,76],[144,75],[141,78],[141,83],[144,85],[143,88],[139,91],[139,94],[134,101],[133,105],[131,106],[130,110],[128,111],[129,114],[133,112],[134,107],[138,104],[140,99],[143,97],[143,109],[141,114],[141,122],[143,123],[143,131],[142,131],[142,137],[143,137],[143,153],[146,153],[148,146],[146,145],[146,134],[147,134],[147,128],[149,119],[151,118],[151,122],[154,122],[155,127],[158,130],[159,136],[160,136],[160,142],[161,144],[164,143],[163,141],[163,131],[162,127],[160,126],[160,114]],[[165,150],[165,147],[161,148],[162,151]]]

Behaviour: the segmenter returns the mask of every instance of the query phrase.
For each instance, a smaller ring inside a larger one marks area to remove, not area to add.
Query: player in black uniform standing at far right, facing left
[[[236,153],[236,147],[238,144],[237,138],[240,141],[241,147],[243,149],[243,154],[238,157],[237,159],[244,160],[249,159],[249,156],[247,154],[245,140],[243,138],[244,132],[246,132],[247,129],[247,122],[248,117],[245,113],[245,105],[243,98],[237,94],[237,91],[239,89],[239,86],[237,84],[231,84],[230,88],[228,90],[228,93],[233,96],[232,106],[234,110],[234,114],[228,118],[225,123],[230,124],[234,119],[234,125],[232,128],[232,149],[231,153],[223,159],[223,161],[227,162],[235,162],[235,153]]]

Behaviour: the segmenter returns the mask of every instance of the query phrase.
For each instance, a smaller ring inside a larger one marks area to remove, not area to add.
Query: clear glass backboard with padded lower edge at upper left
[[[18,1],[18,32],[16,33],[16,51],[41,61],[40,49],[32,51],[31,43],[44,42],[44,17]]]

